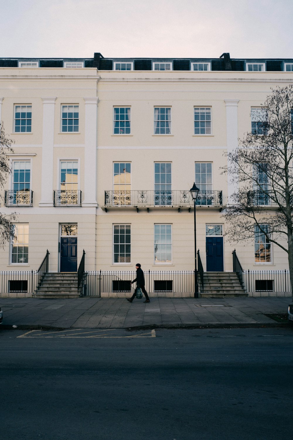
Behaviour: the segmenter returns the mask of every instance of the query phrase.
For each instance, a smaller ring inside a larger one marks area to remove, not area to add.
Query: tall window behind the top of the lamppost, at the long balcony
[[[195,185],[199,188],[196,205],[212,205],[213,174],[211,162],[195,162]]]

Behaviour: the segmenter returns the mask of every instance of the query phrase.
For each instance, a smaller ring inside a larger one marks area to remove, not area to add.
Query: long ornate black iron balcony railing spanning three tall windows
[[[222,206],[222,191],[200,191],[196,205]],[[189,190],[109,190],[105,191],[105,208],[107,207],[150,207],[150,206],[193,206]]]

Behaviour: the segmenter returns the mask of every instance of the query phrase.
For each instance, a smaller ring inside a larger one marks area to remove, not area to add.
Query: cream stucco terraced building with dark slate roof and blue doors
[[[225,153],[257,123],[292,59],[0,59],[0,119],[14,139],[1,212],[18,241],[0,270],[194,270],[194,215],[204,271],[287,268],[286,253],[231,243],[222,211],[235,190]],[[255,110],[256,109],[256,110]],[[208,256],[206,256],[208,253]],[[261,255],[262,254],[262,255]]]

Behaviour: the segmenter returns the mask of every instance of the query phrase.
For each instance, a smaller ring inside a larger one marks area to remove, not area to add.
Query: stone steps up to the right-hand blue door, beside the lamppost
[[[247,297],[235,272],[204,272],[203,298]]]

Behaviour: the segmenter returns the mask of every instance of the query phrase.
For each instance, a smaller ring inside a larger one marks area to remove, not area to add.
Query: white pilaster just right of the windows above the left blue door
[[[84,121],[84,200],[83,206],[98,206],[97,203],[97,132],[98,97],[83,98]]]

